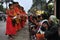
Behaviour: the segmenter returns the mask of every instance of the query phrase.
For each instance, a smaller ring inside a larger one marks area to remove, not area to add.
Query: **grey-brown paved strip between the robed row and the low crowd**
[[[15,40],[29,40],[29,31],[28,26],[25,26],[21,31],[17,33]]]

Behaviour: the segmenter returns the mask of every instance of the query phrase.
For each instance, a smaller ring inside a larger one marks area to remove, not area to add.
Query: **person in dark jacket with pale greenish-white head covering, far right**
[[[44,36],[47,40],[60,40],[58,36],[58,20],[56,16],[51,15],[48,19],[49,27]]]

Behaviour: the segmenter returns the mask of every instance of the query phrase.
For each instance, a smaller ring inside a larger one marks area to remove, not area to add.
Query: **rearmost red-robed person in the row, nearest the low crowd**
[[[23,28],[25,26],[25,22],[27,21],[27,15],[26,12],[24,11],[24,8],[18,5],[18,8],[20,9],[20,14],[21,14],[21,27]]]

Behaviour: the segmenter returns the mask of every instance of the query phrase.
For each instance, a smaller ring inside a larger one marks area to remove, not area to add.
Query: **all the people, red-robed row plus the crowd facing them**
[[[55,15],[46,17],[44,14],[38,16],[32,14],[27,16],[24,8],[18,2],[10,3],[9,8],[6,9],[6,14],[5,34],[10,39],[13,39],[13,36],[24,28],[28,18],[31,40],[60,40],[60,21]]]

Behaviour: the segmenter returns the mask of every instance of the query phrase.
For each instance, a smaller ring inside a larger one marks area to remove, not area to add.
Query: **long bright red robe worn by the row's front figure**
[[[6,20],[6,34],[7,35],[15,35],[16,34],[16,28],[12,25],[12,20],[10,16],[13,15],[13,10],[7,10],[7,20]]]

